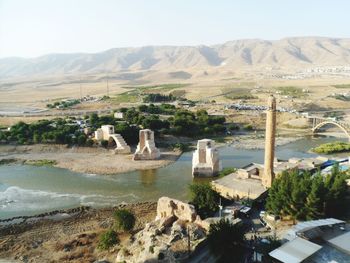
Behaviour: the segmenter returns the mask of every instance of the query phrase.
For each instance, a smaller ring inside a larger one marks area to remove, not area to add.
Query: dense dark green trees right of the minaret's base
[[[280,216],[297,220],[343,217],[349,208],[346,179],[349,174],[334,165],[329,175],[286,171],[269,189],[266,208]]]

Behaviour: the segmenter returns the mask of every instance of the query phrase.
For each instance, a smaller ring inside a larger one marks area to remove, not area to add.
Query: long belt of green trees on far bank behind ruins
[[[199,137],[215,135],[225,131],[225,117],[210,116],[205,110],[191,112],[177,109],[173,105],[141,105],[138,108],[121,109],[124,120],[112,114],[99,116],[96,113],[84,117],[86,126],[94,131],[102,125],[110,124],[115,132],[123,136],[128,144],[138,142],[141,128],[151,129],[156,134]],[[160,116],[167,115],[167,116]],[[17,144],[55,143],[92,146],[94,141],[84,133],[74,118],[40,120],[34,123],[18,122],[9,130],[0,130],[0,142]],[[104,146],[106,143],[102,144]]]

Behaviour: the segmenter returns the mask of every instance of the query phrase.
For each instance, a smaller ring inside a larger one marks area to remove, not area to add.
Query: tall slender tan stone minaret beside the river
[[[276,99],[273,95],[268,98],[266,111],[266,134],[265,134],[265,162],[262,184],[271,187],[275,177],[273,162],[275,158],[275,135],[276,135]]]

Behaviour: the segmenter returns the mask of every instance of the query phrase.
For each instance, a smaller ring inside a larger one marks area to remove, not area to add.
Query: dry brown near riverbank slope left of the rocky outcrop
[[[112,214],[117,208],[126,208],[135,214],[133,232],[144,228],[156,216],[156,203],[144,202],[103,209],[79,207],[0,220],[0,259],[7,262],[114,262],[116,251],[98,250],[97,242],[99,235],[113,225]],[[121,243],[129,236],[121,235]]]

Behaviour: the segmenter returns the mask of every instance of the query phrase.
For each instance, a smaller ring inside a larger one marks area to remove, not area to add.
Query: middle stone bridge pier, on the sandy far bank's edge
[[[139,138],[134,160],[158,159],[160,157],[160,151],[154,143],[154,132],[149,129],[140,130]]]

